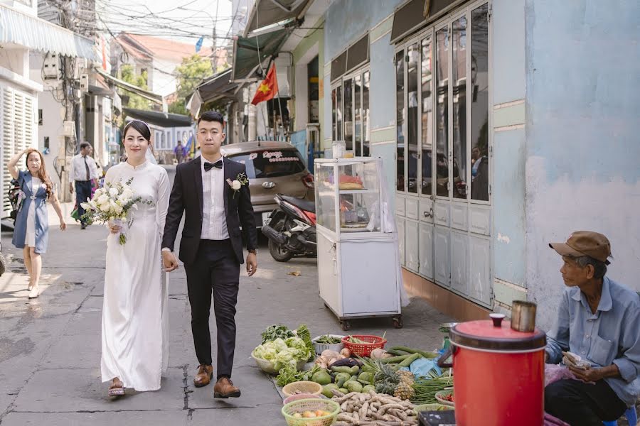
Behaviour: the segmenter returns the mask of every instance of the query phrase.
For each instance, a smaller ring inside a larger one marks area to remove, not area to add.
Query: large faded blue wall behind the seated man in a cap
[[[609,237],[640,290],[640,3],[526,0],[527,281],[543,325],[564,285],[549,241]]]

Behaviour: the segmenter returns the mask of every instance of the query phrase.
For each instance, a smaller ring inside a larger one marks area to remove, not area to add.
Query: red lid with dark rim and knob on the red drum
[[[501,315],[501,317],[504,317]],[[493,321],[492,321],[493,320]],[[540,329],[533,332],[518,332],[511,329],[502,318],[461,322],[451,329],[451,342],[456,346],[489,351],[535,351],[547,344],[547,336]]]

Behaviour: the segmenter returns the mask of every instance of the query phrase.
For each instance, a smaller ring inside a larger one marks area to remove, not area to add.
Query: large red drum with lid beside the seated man
[[[462,322],[451,329],[457,426],[541,426],[546,336],[508,322]]]

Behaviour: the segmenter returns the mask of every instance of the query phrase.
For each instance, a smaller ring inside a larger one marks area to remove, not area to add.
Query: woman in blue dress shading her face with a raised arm
[[[18,161],[26,154],[27,171],[18,170]],[[13,243],[17,249],[23,249],[24,265],[29,273],[29,299],[40,295],[40,273],[42,271],[41,254],[47,251],[49,235],[49,219],[47,214],[47,200],[53,204],[53,209],[60,219],[60,229],[67,229],[65,219],[60,209],[60,202],[53,191],[44,158],[40,151],[28,148],[14,155],[6,165],[11,178],[18,180],[23,192],[23,200],[18,208]]]

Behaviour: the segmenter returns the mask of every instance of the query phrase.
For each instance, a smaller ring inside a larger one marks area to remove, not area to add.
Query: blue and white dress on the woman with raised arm
[[[17,249],[25,246],[27,220],[31,203],[36,204],[34,226],[36,230],[36,253],[46,253],[49,236],[49,218],[47,214],[47,191],[42,185],[38,185],[36,193],[31,192],[31,173],[20,170],[18,174],[18,185],[26,195],[18,210],[16,224],[14,228],[14,238],[11,241]]]

